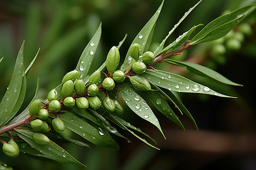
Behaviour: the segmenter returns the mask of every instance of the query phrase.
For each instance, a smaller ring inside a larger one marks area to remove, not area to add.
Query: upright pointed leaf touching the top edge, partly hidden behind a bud
[[[135,39],[131,43],[131,45],[134,43],[141,45],[142,52],[144,52],[144,48],[148,43],[147,42],[148,37],[150,36],[151,32],[154,30],[153,28],[154,28],[156,20],[158,19],[160,11],[162,9],[163,2],[159,6],[159,8],[155,12],[155,14],[151,17],[151,19],[147,22],[147,24],[144,25],[144,27],[141,29],[141,31],[138,33],[138,35],[135,37]],[[132,58],[130,57],[130,53],[128,50],[128,53],[126,54],[126,57],[125,57],[125,61],[123,62],[123,65],[121,66],[121,70],[123,70],[125,68],[129,68],[129,63],[131,62],[131,60],[132,60]]]

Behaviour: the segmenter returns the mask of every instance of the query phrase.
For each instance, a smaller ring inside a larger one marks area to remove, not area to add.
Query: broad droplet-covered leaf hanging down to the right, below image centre
[[[134,91],[134,88],[131,87],[130,83],[123,82],[118,85],[118,88],[123,100],[125,100],[129,108],[139,117],[155,125],[163,134],[155,114],[152,112],[146,101]]]

